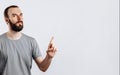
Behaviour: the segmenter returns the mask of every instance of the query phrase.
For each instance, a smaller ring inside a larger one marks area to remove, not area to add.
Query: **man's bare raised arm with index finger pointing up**
[[[56,50],[57,49],[55,48],[53,44],[53,37],[52,37],[48,45],[48,49],[46,51],[46,57],[44,59],[42,57],[35,58],[35,62],[37,63],[41,71],[45,72],[48,69],[52,61],[52,58],[54,57],[56,53]]]

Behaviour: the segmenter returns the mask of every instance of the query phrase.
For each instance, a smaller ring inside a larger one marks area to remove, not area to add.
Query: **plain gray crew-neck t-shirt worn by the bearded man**
[[[18,40],[0,35],[0,75],[31,75],[32,58],[41,56],[36,40],[22,33]]]

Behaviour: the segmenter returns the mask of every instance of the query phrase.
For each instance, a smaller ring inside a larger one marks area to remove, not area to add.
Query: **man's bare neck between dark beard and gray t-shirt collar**
[[[8,31],[7,32],[7,37],[8,39],[11,39],[11,40],[18,40],[21,38],[21,32],[15,32],[15,31]]]

